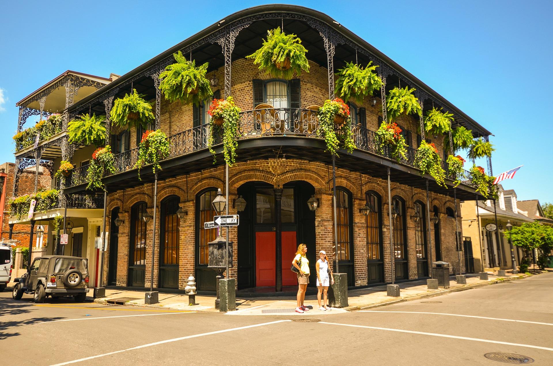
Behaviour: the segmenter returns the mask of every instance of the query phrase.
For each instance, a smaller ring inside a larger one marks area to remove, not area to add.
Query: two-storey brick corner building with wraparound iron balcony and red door
[[[292,80],[276,80],[260,72],[253,60],[244,57],[259,48],[267,30],[276,25],[284,25],[286,33],[297,34],[302,40],[309,51],[309,73]],[[109,141],[116,154],[118,171],[104,180],[109,218],[103,268],[105,285],[144,288],[153,278],[158,289],[182,290],[188,276],[194,274],[199,290],[215,290],[215,272],[207,265],[208,242],[216,235],[215,229],[204,229],[204,222],[211,221],[215,215],[211,201],[217,189],[225,189],[225,165],[221,154],[213,163],[206,145],[210,118],[207,110],[211,100],[201,106],[169,103],[159,92],[159,72],[173,62],[172,55],[179,50],[187,56],[191,54],[196,65],[209,62],[207,77],[214,97],[232,94],[242,110],[237,161],[228,172],[229,213],[237,213],[234,202],[239,196],[247,202],[245,210],[239,212],[239,226],[229,230],[229,238],[234,243],[234,266],[229,275],[237,279],[238,289],[274,286],[280,291],[282,286],[295,285],[295,275],[289,268],[296,246],[307,244],[307,257],[313,267],[319,250],[326,250],[332,257],[335,221],[339,269],[348,274],[350,286],[389,283],[391,253],[394,253],[398,281],[427,278],[436,259],[451,263],[451,271],[457,272],[461,258],[461,270],[465,271],[464,253],[457,252],[455,212],[460,211],[460,206],[457,203],[455,207],[452,180],[447,179],[446,189],[432,177],[421,176],[415,168],[414,152],[421,140],[417,135],[419,117],[401,117],[398,121],[410,146],[408,158],[396,161],[377,152],[374,131],[385,118],[382,113],[385,100],[379,96],[400,84],[415,87],[425,111],[433,105],[443,107],[453,113],[456,125],[471,129],[474,137],[487,138],[491,133],[327,15],[299,6],[267,5],[229,15],[127,74],[113,78],[111,83],[95,79],[95,87],[88,88],[88,95],[79,92],[81,100],[71,90],[66,92],[75,98],[66,100],[65,109],[58,109],[65,116],[63,132],[51,141],[39,143],[39,149],[48,155],[53,171],[62,159],[76,166],[67,184],[61,182],[65,195],[90,194],[85,190],[84,177],[94,147],[71,147],[65,143],[66,121],[89,112],[108,116]],[[386,83],[379,96],[349,104],[357,149],[352,154],[340,151],[340,157],[336,158],[337,217],[333,220],[333,159],[325,152],[325,140],[317,135],[317,115],[309,107],[322,106],[334,96],[333,71],[346,61],[356,60],[356,54],[359,64],[374,61]],[[82,78],[93,81],[90,76]],[[170,155],[161,161],[163,170],[159,171],[157,202],[153,201],[152,170],[143,169],[139,180],[137,170],[133,169],[142,130],[114,128],[109,123],[114,98],[123,97],[132,88],[155,103],[156,126],[152,128],[163,130],[171,142]],[[18,104],[23,116],[29,108],[36,111],[40,98],[35,93]],[[262,104],[265,104],[262,111],[256,111]],[[19,126],[23,123],[20,118]],[[444,137],[435,137],[432,142],[442,154]],[[215,149],[220,153],[221,145]],[[23,164],[23,158],[33,159],[36,152],[33,148],[18,151],[19,164]],[[391,192],[388,192],[388,176]],[[55,186],[54,181],[52,185]],[[426,186],[429,187],[429,210]],[[316,211],[309,210],[307,205],[312,196],[319,201]],[[476,194],[470,177],[457,187],[456,196],[465,202],[482,198]],[[390,248],[390,205],[393,207],[393,249]],[[158,210],[155,228],[153,220],[143,220],[144,216],[153,215],[154,206]],[[371,207],[367,216],[360,212],[364,206]],[[71,213],[67,210],[74,227],[88,232],[89,250],[82,244],[82,254],[86,253],[93,263],[98,263],[98,256],[96,250],[90,250],[91,240],[101,229],[101,207],[98,201],[97,208],[75,209]],[[430,228],[427,211],[438,218]],[[56,213],[63,214],[61,206],[48,213],[48,217]],[[461,234],[461,217],[458,213],[457,216]],[[152,258],[154,236],[155,257]],[[281,253],[281,257],[277,258],[276,253]],[[312,278],[311,285],[314,284]]]

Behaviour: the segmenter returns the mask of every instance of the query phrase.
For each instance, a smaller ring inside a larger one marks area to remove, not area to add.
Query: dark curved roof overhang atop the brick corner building
[[[352,33],[347,28],[342,27],[340,23],[337,23],[334,19],[332,19],[331,17],[328,17],[328,15],[315,11],[314,9],[295,6],[295,5],[285,5],[285,4],[270,4],[270,5],[256,6],[256,7],[244,9],[242,11],[228,15],[228,17],[221,19],[220,22],[210,25],[204,30],[201,30],[200,32],[190,36],[189,38],[182,41],[181,43],[153,57],[153,59],[150,59],[147,62],[144,62],[144,64],[136,67],[132,71],[129,71],[127,74],[123,75],[116,81],[113,81],[112,83],[109,83],[105,87],[100,88],[100,90],[96,91],[95,93],[92,93],[92,95],[75,103],[69,109],[70,111],[74,111],[75,113],[85,112],[83,108],[85,108],[85,106],[87,106],[87,104],[90,103],[91,101],[94,101],[95,98],[97,98],[98,96],[102,95],[103,93],[109,90],[112,90],[113,88],[126,85],[126,83],[128,83],[129,80],[131,80],[135,75],[138,75],[140,72],[147,70],[149,67],[152,67],[156,63],[166,59],[167,57],[170,57],[173,53],[176,53],[177,51],[184,49],[186,46],[194,44],[196,41],[199,41],[202,38],[205,38],[206,36],[212,34],[213,32],[216,32],[217,30],[222,29],[228,24],[231,24],[243,18],[251,17],[253,15],[279,13],[279,12],[307,15],[309,17],[314,18],[315,20],[320,20],[321,22],[326,23],[329,27],[333,28],[336,32],[341,33],[343,36],[352,40],[354,43],[362,46],[364,49],[368,50],[371,54],[379,57],[379,59],[383,60],[394,70],[398,71],[401,75],[403,75],[409,80],[412,80],[415,83],[414,85],[415,87],[421,87],[424,91],[429,93],[430,96],[434,97],[437,102],[443,104],[444,108],[447,108],[450,112],[453,112],[457,114],[457,116],[460,116],[461,119],[457,122],[465,125],[465,127],[469,129],[473,129],[474,134],[476,134],[477,136],[491,134],[491,132],[489,132],[486,128],[482,127],[471,117],[467,116],[467,114],[462,112],[457,107],[453,106],[453,104],[448,102],[439,93],[432,90],[432,88],[427,86],[424,82],[417,79],[409,71],[403,69],[403,67],[398,65],[388,56],[384,55],[378,49],[374,48],[374,46],[367,43],[367,41],[363,40],[356,34]],[[317,32],[317,30],[312,28],[309,24],[306,24],[303,20],[287,19],[287,18],[281,20],[280,18],[276,18],[276,17],[274,19],[255,20],[248,28],[243,29],[239,33],[235,41],[235,48],[232,55],[233,60],[252,54],[257,48],[259,48],[262,38],[266,37],[267,30],[279,26],[281,22],[284,23],[285,30],[287,30],[288,32],[295,33],[302,40],[302,44],[304,44],[304,46],[308,50],[307,57],[310,60],[321,65],[322,67],[326,68],[326,65],[327,65],[326,51],[324,48],[324,42],[319,32]],[[335,69],[341,67],[341,65],[345,61],[355,60],[354,50],[347,45],[342,45],[342,44],[337,45],[336,55],[339,55],[339,56],[335,56]],[[210,62],[210,67],[208,71],[216,70],[219,67],[224,66],[223,55],[221,53],[221,46],[218,44],[206,43],[204,45],[197,47],[193,51],[192,58],[196,60],[196,64]],[[368,59],[363,55],[358,55],[358,59],[359,59],[359,63],[368,62]],[[388,89],[393,88],[395,85],[397,85],[397,78],[394,80],[393,77],[390,77],[387,82],[387,88]],[[139,93],[146,94],[150,98],[155,98],[155,88],[154,88],[154,82],[152,77],[149,77],[149,76],[140,77],[139,79],[133,82],[133,87],[137,89]],[[128,93],[130,91],[131,91],[131,86],[128,86],[126,88],[121,88],[121,90],[119,90],[119,92],[117,93],[116,97],[123,97],[125,93]],[[430,106],[427,106],[426,108],[428,107]],[[103,105],[102,100],[95,101],[94,103],[92,103],[90,108],[93,113],[105,114],[105,107]],[[86,109],[86,112],[88,112],[88,107],[86,107],[85,109]]]

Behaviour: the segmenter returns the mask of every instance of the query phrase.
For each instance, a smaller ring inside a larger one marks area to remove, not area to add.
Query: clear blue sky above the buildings
[[[65,70],[125,74],[243,8],[243,1],[27,1],[0,8],[0,163],[14,161],[15,103]],[[490,130],[493,170],[519,200],[553,202],[550,1],[306,1]]]

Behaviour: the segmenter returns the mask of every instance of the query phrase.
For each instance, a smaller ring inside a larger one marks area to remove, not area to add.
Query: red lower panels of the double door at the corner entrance
[[[290,270],[296,253],[296,232],[283,231],[282,241],[282,285],[298,284],[296,274]],[[276,284],[276,238],[274,231],[255,233],[255,286]]]

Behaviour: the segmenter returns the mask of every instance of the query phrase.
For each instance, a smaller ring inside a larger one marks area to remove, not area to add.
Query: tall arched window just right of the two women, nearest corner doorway
[[[351,193],[343,187],[336,187],[336,232],[340,271],[348,274],[348,284],[353,284],[353,227]],[[350,280],[351,278],[351,280]]]

